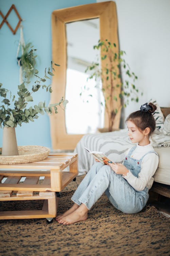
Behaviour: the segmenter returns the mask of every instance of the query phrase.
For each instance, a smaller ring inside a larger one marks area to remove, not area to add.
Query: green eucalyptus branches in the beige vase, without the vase
[[[51,62],[51,68],[48,69],[48,74],[50,76],[53,76],[54,74],[51,72],[52,70],[54,70],[53,66],[52,66],[53,62]],[[60,66],[54,63],[54,65],[56,66]],[[55,71],[55,70],[54,70]],[[33,97],[31,96],[31,94],[34,92],[37,92],[39,90],[40,87],[42,87],[43,89],[46,88],[46,91],[49,93],[52,93],[52,89],[51,89],[51,84],[46,86],[44,85],[40,85],[41,82],[46,82],[45,77],[47,78],[46,75],[46,69],[45,69],[45,76],[43,78],[39,77],[38,74],[38,70],[34,70],[35,76],[37,76],[40,81],[35,81],[35,83],[37,83],[35,86],[33,85],[32,87],[32,91],[30,92],[28,88],[26,88],[25,83],[26,80],[21,84],[18,85],[18,99],[15,100],[14,102],[14,109],[10,109],[8,108],[8,106],[10,106],[10,100],[8,100],[6,98],[6,94],[7,93],[11,93],[11,91],[2,88],[2,84],[0,83],[0,96],[3,97],[4,99],[2,100],[2,102],[4,104],[7,105],[7,109],[5,109],[4,105],[0,106],[0,127],[1,124],[3,124],[3,126],[5,127],[16,127],[17,125],[22,125],[22,123],[29,123],[29,121],[34,122],[34,119],[37,119],[39,116],[39,114],[44,115],[45,113],[47,114],[52,114],[52,111],[54,109],[55,113],[57,112],[57,106],[63,105],[63,110],[66,107],[66,104],[68,103],[67,100],[64,100],[64,98],[62,97],[61,100],[57,103],[54,104],[50,104],[49,106],[46,106],[45,101],[44,102],[39,102],[38,105],[34,105],[30,106],[29,108],[27,108],[27,104],[28,102],[33,102]],[[49,77],[48,77],[49,78]],[[10,94],[10,98],[11,98],[11,94]],[[15,95],[13,96],[12,101],[14,101],[15,99]]]

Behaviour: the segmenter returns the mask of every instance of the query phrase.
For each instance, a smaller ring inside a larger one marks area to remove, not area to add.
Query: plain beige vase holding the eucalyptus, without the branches
[[[3,127],[2,156],[17,156],[18,147],[15,128]]]

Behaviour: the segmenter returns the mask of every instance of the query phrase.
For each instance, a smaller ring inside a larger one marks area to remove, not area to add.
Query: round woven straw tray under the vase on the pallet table
[[[2,153],[2,147],[0,148]],[[46,159],[50,153],[49,148],[42,146],[20,146],[18,156],[0,155],[0,164],[30,163]]]

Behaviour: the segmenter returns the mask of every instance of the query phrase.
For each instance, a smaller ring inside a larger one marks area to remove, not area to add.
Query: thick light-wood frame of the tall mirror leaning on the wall
[[[52,77],[52,94],[50,103],[55,103],[65,96],[67,70],[66,23],[78,20],[99,18],[100,39],[108,39],[118,45],[116,4],[113,1],[80,5],[52,12],[52,60],[59,64]],[[102,63],[103,64],[103,63]],[[118,97],[119,98],[119,97]],[[119,100],[119,99],[118,99]],[[119,104],[119,102],[117,102]],[[69,107],[69,104],[67,105]],[[121,112],[121,111],[119,111]],[[73,113],[75,115],[76,113]],[[119,128],[120,113],[115,120],[115,128]],[[105,115],[105,127],[108,120]],[[65,112],[60,110],[50,116],[51,140],[53,150],[73,150],[84,134],[67,134]]]

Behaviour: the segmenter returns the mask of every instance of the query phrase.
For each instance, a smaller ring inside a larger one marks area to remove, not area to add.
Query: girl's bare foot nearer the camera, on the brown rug
[[[88,209],[86,208],[86,206],[84,204],[81,204],[77,210],[68,214],[67,216],[63,216],[57,221],[58,223],[64,225],[73,224],[79,221],[85,221],[87,219],[87,212]]]

